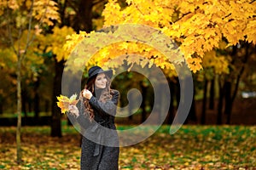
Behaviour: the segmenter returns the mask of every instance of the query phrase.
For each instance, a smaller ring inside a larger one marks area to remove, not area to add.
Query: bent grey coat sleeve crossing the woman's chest
[[[96,111],[98,111],[103,115],[108,114],[112,116],[114,116],[116,113],[116,107],[118,105],[118,102],[119,102],[119,91],[117,90],[113,91],[112,99],[106,101],[105,103],[96,99],[95,96],[92,96],[89,100],[89,104],[93,107],[93,109],[95,109]]]

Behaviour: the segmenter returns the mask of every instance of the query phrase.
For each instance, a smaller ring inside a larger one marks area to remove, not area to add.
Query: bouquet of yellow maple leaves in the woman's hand
[[[68,111],[68,105],[77,105],[77,103],[79,102],[77,96],[77,94],[73,94],[70,98],[63,95],[57,97],[57,99],[59,100],[57,102],[57,105],[61,108],[61,113],[66,113],[66,111]]]

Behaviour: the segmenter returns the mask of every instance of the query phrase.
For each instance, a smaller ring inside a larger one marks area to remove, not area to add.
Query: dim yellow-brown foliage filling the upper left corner
[[[32,79],[38,77],[40,69],[34,68],[44,64],[44,58],[38,55],[43,54],[49,44],[44,43],[44,35],[40,33],[42,26],[53,26],[55,21],[61,21],[57,3],[53,0],[2,0],[0,17],[3,40],[0,42],[0,53],[3,53],[0,65],[15,72],[18,69],[16,63],[20,62],[21,75],[26,74]]]

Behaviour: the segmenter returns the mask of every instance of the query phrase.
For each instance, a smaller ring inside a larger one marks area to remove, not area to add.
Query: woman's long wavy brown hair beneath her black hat
[[[99,96],[99,101],[101,101],[102,103],[105,103],[108,99],[112,99],[112,95],[111,95],[112,90],[110,88],[110,85],[111,85],[110,78],[106,74],[105,76],[107,78],[106,88],[102,89],[102,93]],[[82,96],[85,89],[90,90],[90,92],[94,96],[96,96],[95,81],[96,81],[96,77],[92,77],[90,81],[85,84],[84,89],[82,90],[80,96]],[[91,105],[89,104],[89,99],[84,99],[84,106],[85,106],[85,113],[89,114],[90,121],[91,121],[94,118],[95,114],[93,109],[91,108]]]

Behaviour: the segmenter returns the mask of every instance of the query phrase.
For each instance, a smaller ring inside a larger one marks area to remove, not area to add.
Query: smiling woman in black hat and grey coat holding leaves
[[[89,70],[89,78],[80,94],[82,111],[75,105],[69,113],[83,127],[81,169],[118,169],[119,139],[114,125],[119,92],[110,88],[111,70],[99,66]]]

